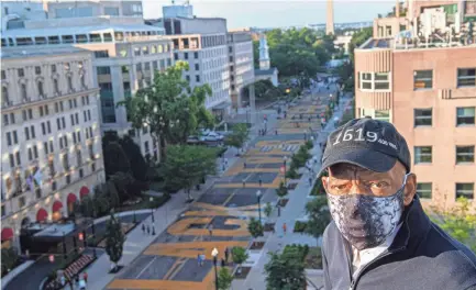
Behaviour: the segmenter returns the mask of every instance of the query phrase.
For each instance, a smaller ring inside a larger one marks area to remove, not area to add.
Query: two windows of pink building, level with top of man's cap
[[[475,125],[475,107],[456,108],[456,126]],[[433,109],[414,109],[414,126],[432,126]]]

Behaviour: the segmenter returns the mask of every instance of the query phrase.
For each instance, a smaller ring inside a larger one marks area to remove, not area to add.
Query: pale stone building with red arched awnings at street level
[[[103,182],[91,53],[2,49],[2,246],[22,227],[67,217]]]

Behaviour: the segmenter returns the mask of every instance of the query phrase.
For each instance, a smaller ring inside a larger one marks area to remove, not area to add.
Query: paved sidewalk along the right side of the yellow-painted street
[[[333,116],[342,118],[344,109],[350,103],[348,99],[341,100],[339,110],[334,113]],[[334,129],[333,122],[328,122],[328,125],[324,129],[324,132],[330,132]],[[319,138],[316,141],[316,144],[319,142],[325,142],[328,134],[319,134]],[[311,150],[312,156],[317,156],[319,163],[314,165],[314,171],[320,169],[320,160],[321,160],[321,148],[314,146]],[[259,253],[259,259],[254,263],[253,268],[251,269],[247,278],[245,280],[233,280],[232,289],[233,290],[242,290],[242,289],[253,289],[253,290],[262,290],[266,289],[266,275],[264,275],[264,267],[268,263],[269,257],[267,255],[268,252],[281,250],[285,245],[288,244],[307,244],[309,246],[317,246],[317,239],[310,235],[292,233],[295,227],[295,222],[297,219],[301,219],[306,214],[306,203],[309,201],[309,193],[312,190],[312,187],[309,186],[308,182],[309,175],[303,175],[299,180],[298,187],[289,193],[291,197],[289,198],[288,204],[281,210],[280,217],[276,219],[276,233],[269,234],[266,238],[266,244],[264,248]],[[313,177],[316,179],[316,177]],[[283,234],[283,224],[287,225],[287,234]],[[310,277],[308,277],[309,279]],[[312,275],[312,283],[314,286],[321,287],[322,280],[320,280],[320,275]]]

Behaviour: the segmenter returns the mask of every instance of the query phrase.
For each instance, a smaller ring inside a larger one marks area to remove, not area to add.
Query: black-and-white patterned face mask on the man
[[[328,193],[329,209],[339,231],[358,250],[380,245],[394,233],[403,212],[401,188],[388,197]]]

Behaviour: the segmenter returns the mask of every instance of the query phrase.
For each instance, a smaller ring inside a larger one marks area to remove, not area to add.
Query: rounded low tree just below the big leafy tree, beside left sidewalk
[[[173,145],[167,149],[164,179],[169,188],[190,189],[208,175],[217,174],[217,150],[206,146]]]

